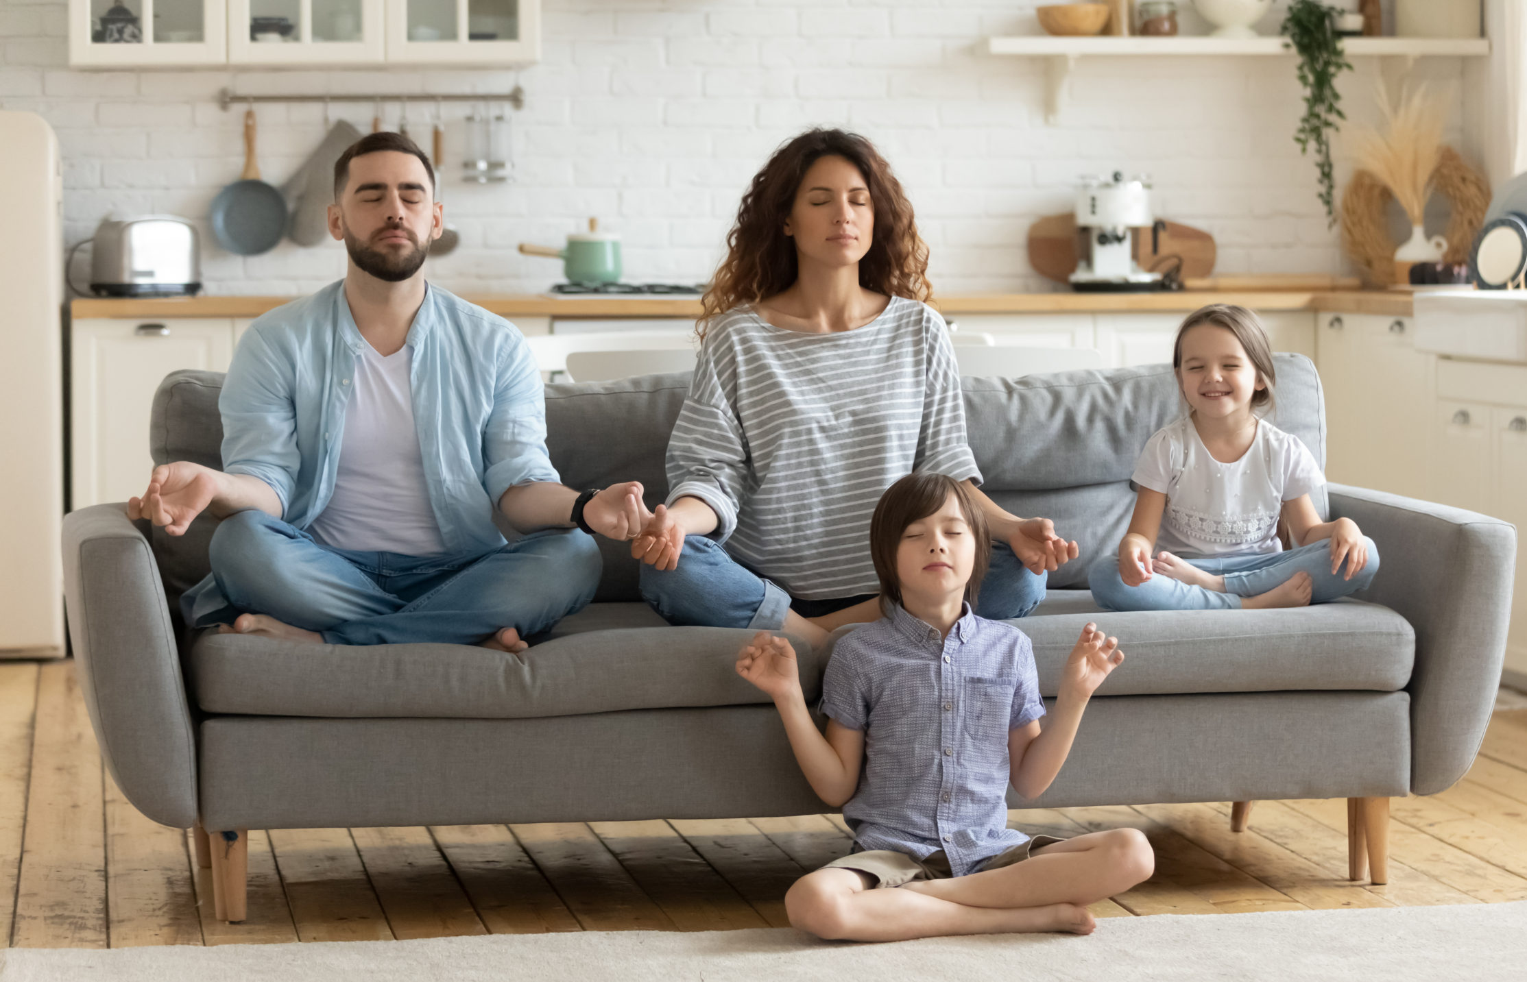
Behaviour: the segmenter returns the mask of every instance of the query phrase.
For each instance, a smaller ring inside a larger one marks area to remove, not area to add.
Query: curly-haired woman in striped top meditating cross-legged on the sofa
[[[875,147],[809,130],[742,197],[704,296],[702,347],[667,449],[667,502],[632,544],[673,625],[818,644],[876,620],[869,522],[913,470],[967,481],[993,533],[979,614],[1023,617],[1077,557],[1049,519],[976,490],[959,371],[927,305],[928,249]]]

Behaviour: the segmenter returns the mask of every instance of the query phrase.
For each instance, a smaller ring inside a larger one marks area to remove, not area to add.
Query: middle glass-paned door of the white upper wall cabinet
[[[228,61],[376,64],[386,60],[383,21],[385,0],[228,0]]]

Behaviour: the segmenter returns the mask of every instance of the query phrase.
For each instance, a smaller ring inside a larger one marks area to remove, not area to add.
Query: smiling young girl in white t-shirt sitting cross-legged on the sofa
[[[1368,586],[1379,571],[1373,539],[1350,518],[1321,521],[1310,502],[1325,483],[1319,464],[1258,412],[1272,406],[1277,379],[1257,315],[1225,304],[1188,315],[1171,363],[1190,412],[1157,431],[1135,466],[1130,530],[1118,557],[1089,571],[1096,602],[1113,611],[1260,609]]]

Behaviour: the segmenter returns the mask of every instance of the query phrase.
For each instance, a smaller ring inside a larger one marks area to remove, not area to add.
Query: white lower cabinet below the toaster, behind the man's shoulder
[[[153,472],[154,392],[180,368],[226,371],[228,318],[82,319],[70,325],[70,490],[75,509],[142,495]]]

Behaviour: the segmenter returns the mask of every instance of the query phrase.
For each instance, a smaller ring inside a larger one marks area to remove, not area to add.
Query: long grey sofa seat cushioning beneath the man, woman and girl
[[[1101,612],[1051,591],[1017,623],[1054,696],[1081,626],[1121,638],[1125,661],[1098,695],[1403,689],[1416,637],[1394,611],[1341,600],[1293,611]],[[851,631],[844,628],[843,631]],[[206,632],[191,648],[208,713],[518,719],[626,709],[745,706],[768,696],[733,670],[751,631],[670,628],[643,603],[594,603],[519,655],[464,644],[304,644]],[[822,692],[831,646],[797,643],[802,687]]]

